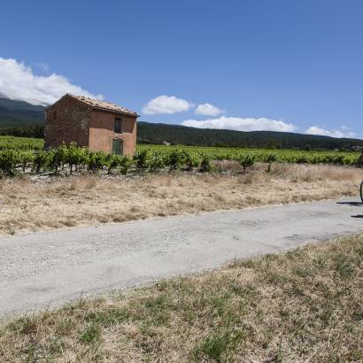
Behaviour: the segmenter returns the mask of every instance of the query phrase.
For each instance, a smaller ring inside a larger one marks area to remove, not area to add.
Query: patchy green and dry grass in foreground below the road
[[[363,235],[0,325],[3,362],[363,360]]]

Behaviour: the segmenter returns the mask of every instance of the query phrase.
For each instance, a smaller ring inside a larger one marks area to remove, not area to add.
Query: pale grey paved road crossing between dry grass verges
[[[363,230],[357,201],[272,206],[0,238],[0,314]]]

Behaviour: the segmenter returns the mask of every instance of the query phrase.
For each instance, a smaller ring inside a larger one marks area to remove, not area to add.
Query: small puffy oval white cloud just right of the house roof
[[[143,106],[143,113],[152,115],[156,113],[176,113],[189,111],[192,106],[188,101],[175,96],[158,96]]]

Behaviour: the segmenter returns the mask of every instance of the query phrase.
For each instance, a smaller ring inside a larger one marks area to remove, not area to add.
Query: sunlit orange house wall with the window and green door
[[[122,133],[113,132],[116,118],[122,119]],[[93,110],[89,120],[89,149],[112,152],[113,139],[123,141],[123,154],[132,156],[136,147],[136,118],[116,112]]]

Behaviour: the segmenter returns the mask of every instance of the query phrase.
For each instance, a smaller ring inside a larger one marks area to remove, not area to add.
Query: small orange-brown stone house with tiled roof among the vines
[[[109,102],[66,94],[45,110],[44,148],[62,143],[91,151],[134,155],[136,112]]]

